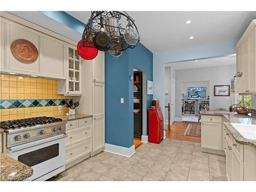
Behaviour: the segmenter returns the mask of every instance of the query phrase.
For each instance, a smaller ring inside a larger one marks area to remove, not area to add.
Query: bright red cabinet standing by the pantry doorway
[[[161,108],[148,109],[148,142],[160,143],[163,139],[163,114]]]

